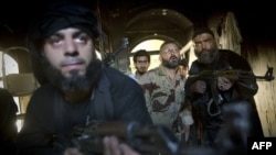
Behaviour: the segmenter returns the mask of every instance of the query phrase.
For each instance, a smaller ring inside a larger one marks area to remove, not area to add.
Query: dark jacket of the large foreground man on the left
[[[92,99],[79,103],[65,102],[49,84],[41,86],[30,100],[17,139],[19,154],[61,155],[70,145],[73,128],[88,120],[152,124],[140,86],[114,68],[104,67],[102,73]]]

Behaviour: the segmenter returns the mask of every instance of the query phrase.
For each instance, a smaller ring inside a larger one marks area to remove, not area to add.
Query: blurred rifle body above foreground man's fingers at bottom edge
[[[174,155],[179,146],[169,129],[137,122],[100,122],[76,128],[72,142],[85,155],[103,154],[103,137],[108,135],[117,136],[142,155]]]

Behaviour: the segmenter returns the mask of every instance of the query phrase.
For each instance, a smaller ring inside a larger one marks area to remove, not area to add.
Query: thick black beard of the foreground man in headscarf
[[[52,67],[46,59],[44,60],[44,74],[47,80],[61,91],[88,91],[99,77],[100,62],[95,58],[87,66],[84,76],[79,76],[77,70],[72,70],[70,78],[63,77],[61,70]]]

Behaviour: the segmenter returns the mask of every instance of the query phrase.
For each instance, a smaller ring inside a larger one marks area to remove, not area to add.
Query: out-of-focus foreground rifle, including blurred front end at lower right
[[[244,102],[227,106],[225,123],[220,131],[217,148],[202,146],[184,146],[174,134],[162,125],[141,125],[137,122],[98,122],[76,128],[72,143],[84,155],[104,154],[103,137],[115,135],[141,155],[243,155],[246,133],[250,130],[250,108]],[[238,120],[238,123],[236,123]],[[238,144],[233,141],[242,140]],[[241,145],[240,145],[241,144]]]

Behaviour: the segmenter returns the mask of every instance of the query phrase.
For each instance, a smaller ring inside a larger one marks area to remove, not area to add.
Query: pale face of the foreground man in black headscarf
[[[84,76],[93,58],[93,40],[78,29],[63,29],[45,40],[43,55],[64,78]]]

